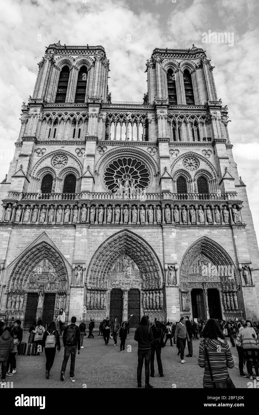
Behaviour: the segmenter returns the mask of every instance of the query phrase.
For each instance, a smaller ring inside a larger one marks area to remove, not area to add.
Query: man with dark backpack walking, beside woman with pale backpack
[[[76,325],[76,317],[71,318],[71,324],[66,326],[63,333],[63,344],[64,344],[64,360],[61,367],[60,379],[64,381],[64,375],[66,371],[66,364],[68,362],[69,356],[71,355],[70,362],[70,379],[74,380],[75,374],[75,361],[76,361],[76,347],[78,354],[80,353],[80,330]]]

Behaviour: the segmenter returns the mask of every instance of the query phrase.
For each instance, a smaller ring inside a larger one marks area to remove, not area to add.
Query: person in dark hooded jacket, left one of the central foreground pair
[[[154,340],[153,332],[149,327],[149,320],[143,316],[140,325],[137,327],[134,340],[138,342],[138,366],[137,366],[137,386],[141,388],[142,367],[145,361],[145,388],[153,388],[149,383],[150,376],[150,358],[151,358],[151,342]]]

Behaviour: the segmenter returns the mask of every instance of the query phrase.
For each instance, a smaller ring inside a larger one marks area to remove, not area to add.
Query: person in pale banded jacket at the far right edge
[[[256,380],[259,381],[259,348],[257,334],[253,327],[251,327],[251,321],[246,320],[244,322],[244,329],[240,333],[240,341],[243,347],[244,360],[247,362],[247,371],[249,373],[249,379],[253,380],[253,369],[256,374]]]

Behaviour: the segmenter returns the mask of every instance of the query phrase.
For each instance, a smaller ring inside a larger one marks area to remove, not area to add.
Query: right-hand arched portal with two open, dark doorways
[[[202,237],[183,255],[180,265],[180,303],[183,315],[197,320],[242,318],[237,271],[227,252]]]

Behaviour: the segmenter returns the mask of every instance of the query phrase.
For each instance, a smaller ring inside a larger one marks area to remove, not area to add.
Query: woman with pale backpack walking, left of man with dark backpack
[[[51,321],[42,338],[42,347],[45,349],[46,356],[46,379],[49,379],[49,372],[53,366],[56,349],[60,352],[59,332],[56,328],[56,322]]]

